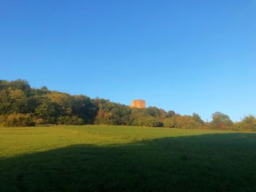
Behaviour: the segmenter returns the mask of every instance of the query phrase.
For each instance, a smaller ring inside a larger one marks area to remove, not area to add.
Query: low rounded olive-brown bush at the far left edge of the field
[[[1,126],[34,126],[34,119],[30,114],[10,114],[1,116],[0,118]]]

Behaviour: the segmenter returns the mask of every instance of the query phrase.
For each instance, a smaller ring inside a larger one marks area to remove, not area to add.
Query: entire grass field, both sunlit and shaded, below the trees
[[[256,191],[256,134],[0,128],[0,191]]]

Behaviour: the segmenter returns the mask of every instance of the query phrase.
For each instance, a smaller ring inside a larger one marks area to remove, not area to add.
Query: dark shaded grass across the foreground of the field
[[[256,191],[256,134],[73,145],[1,159],[0,191]]]

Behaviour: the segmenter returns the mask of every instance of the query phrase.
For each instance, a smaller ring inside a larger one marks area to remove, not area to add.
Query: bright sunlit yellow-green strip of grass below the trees
[[[162,137],[184,137],[228,132],[136,126],[38,126],[0,128],[0,157],[11,157],[13,155],[34,153],[69,145],[121,145]]]

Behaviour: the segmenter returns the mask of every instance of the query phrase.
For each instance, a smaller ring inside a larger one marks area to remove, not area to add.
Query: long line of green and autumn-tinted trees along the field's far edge
[[[128,125],[168,128],[204,128],[256,131],[256,118],[249,115],[234,123],[215,112],[211,122],[199,115],[179,115],[157,107],[130,108],[107,99],[90,99],[48,88],[31,88],[26,80],[0,80],[0,125]]]

